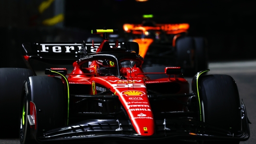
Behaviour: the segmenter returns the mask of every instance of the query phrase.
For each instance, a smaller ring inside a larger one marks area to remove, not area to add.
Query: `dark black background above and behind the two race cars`
[[[0,0],[0,67],[21,67],[25,42],[80,42],[91,29],[119,29],[154,14],[157,23],[189,23],[190,36],[208,40],[209,61],[255,59],[256,0],[55,0],[42,14],[38,6],[49,0]],[[57,13],[64,21],[42,25]]]

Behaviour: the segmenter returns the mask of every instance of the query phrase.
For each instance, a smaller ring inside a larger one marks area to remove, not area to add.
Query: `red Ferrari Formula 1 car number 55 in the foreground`
[[[154,143],[193,141],[238,144],[250,136],[237,85],[229,75],[180,67],[146,67],[135,42],[23,43],[23,57],[68,65],[0,68],[1,134],[19,131],[21,144],[47,142]],[[97,45],[97,47],[96,47]],[[159,70],[161,72],[159,72]],[[19,108],[19,112],[17,109]]]

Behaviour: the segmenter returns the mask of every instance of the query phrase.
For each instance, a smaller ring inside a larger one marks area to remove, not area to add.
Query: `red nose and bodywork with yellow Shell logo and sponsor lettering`
[[[100,52],[104,40],[98,47],[97,52]],[[150,136],[154,134],[155,124],[154,116],[151,110],[151,105],[147,97],[146,84],[156,83],[177,83],[180,85],[178,93],[189,93],[189,83],[184,78],[162,78],[157,80],[148,79],[141,68],[121,68],[120,73],[126,79],[120,79],[116,76],[100,76],[96,72],[97,63],[92,61],[89,68],[81,68],[83,63],[74,62],[74,70],[67,74],[69,84],[84,84],[91,85],[89,94],[95,95],[96,85],[100,84],[107,89],[110,89],[114,95],[119,97],[121,104],[128,113],[129,119],[136,130],[136,132],[143,136]],[[84,73],[83,70],[90,73]],[[160,88],[160,87],[159,87]],[[188,101],[188,98],[180,98],[181,101]],[[161,109],[171,111],[183,111],[183,105],[164,102],[155,102],[154,105]]]

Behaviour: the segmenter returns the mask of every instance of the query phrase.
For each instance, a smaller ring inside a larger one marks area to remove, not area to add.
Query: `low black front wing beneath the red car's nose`
[[[133,130],[129,120],[94,119],[49,130],[44,134],[44,137],[36,138],[36,140],[40,143],[48,141],[126,141],[137,143],[159,142],[161,140],[246,141],[250,136],[249,120],[243,101],[241,105],[243,108],[242,129],[236,133],[190,117],[183,117],[155,120],[155,133],[152,136],[141,136]],[[182,113],[182,115],[184,114]]]

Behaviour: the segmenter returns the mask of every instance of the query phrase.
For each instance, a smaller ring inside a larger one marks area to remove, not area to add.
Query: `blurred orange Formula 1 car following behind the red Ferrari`
[[[128,41],[139,43],[143,67],[181,66],[186,75],[208,68],[207,45],[203,37],[186,36],[189,24],[156,24],[148,17],[142,24],[124,24]]]

